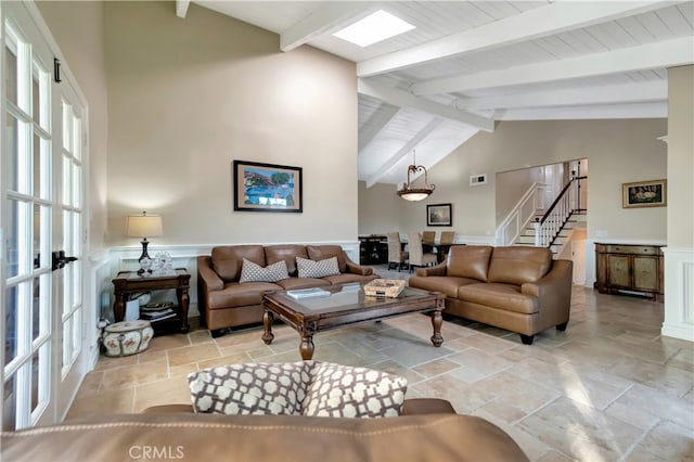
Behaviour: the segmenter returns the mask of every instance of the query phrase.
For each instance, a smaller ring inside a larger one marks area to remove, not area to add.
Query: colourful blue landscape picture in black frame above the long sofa
[[[234,161],[234,210],[303,211],[301,167]]]

